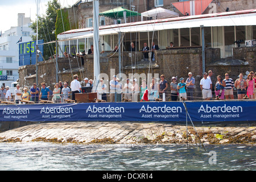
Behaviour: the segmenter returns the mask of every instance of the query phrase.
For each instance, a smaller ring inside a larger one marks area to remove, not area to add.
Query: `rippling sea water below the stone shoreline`
[[[0,170],[255,170],[255,146],[0,143]]]

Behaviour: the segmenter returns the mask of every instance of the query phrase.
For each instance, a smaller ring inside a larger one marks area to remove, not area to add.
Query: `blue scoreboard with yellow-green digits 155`
[[[43,55],[44,40],[38,40],[38,49]],[[39,55],[38,61],[43,61],[42,55]],[[19,66],[36,64],[36,41],[19,44]]]

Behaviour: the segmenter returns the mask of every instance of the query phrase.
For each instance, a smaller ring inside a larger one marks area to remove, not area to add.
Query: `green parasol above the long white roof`
[[[126,18],[131,17],[131,16],[141,16],[140,13],[136,13],[134,11],[124,9],[123,7],[117,7],[117,8],[112,9],[112,10],[104,11],[104,12],[100,13],[99,15],[100,16],[107,16],[107,17],[113,18],[113,19],[123,18],[124,16]]]

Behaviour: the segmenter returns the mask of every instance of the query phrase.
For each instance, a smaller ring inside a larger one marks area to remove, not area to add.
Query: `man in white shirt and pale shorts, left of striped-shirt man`
[[[200,88],[202,90],[203,98],[210,100],[212,98],[212,81],[207,77],[208,74],[204,73],[204,77],[200,81]]]

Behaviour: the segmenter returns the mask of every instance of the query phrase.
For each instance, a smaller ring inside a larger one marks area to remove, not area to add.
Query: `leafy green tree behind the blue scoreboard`
[[[57,10],[60,4],[57,0],[48,1],[46,15],[38,17],[38,39],[44,39],[44,43],[56,40],[55,23],[57,19]],[[36,32],[36,20],[32,23],[31,28]],[[36,35],[32,35],[32,40],[36,40]],[[55,54],[55,43],[44,45],[44,59],[48,60],[49,56]]]

